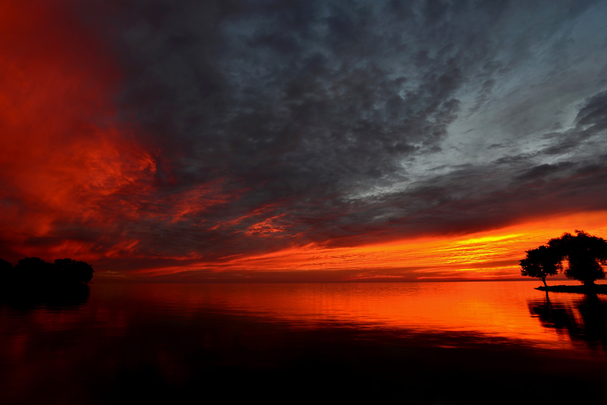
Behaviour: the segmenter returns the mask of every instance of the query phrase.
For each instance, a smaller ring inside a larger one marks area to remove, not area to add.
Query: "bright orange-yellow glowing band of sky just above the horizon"
[[[447,237],[396,240],[358,247],[310,244],[274,253],[236,256],[141,274],[171,274],[197,269],[225,271],[354,270],[356,279],[495,279],[520,277],[524,251],[565,231],[583,229],[607,237],[607,211],[568,214],[498,230]]]

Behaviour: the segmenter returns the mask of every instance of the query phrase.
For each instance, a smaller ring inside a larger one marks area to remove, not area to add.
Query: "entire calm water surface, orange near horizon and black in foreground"
[[[607,298],[537,285],[13,294],[0,307],[0,402],[605,403]]]

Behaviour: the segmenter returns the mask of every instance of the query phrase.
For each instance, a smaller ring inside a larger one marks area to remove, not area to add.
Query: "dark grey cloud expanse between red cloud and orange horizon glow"
[[[597,4],[79,4],[155,172],[100,206],[111,229],[65,220],[55,242],[26,243],[123,238],[140,262],[171,262],[605,208],[607,93],[576,87],[571,45]]]

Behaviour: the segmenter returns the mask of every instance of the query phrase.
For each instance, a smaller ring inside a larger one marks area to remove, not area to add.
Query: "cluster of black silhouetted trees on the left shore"
[[[4,286],[84,284],[93,273],[90,264],[72,259],[47,263],[39,257],[25,257],[15,266],[0,259],[0,284]]]

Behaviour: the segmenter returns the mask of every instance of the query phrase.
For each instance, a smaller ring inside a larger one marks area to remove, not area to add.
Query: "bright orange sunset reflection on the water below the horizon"
[[[573,282],[565,282],[574,284]],[[534,282],[424,282],[322,284],[140,284],[97,285],[100,291],[134,294],[141,307],[196,319],[202,308],[314,328],[331,324],[354,328],[458,333],[552,349],[580,350],[529,311],[529,302],[546,294]],[[580,294],[551,293],[557,304],[572,307]],[[437,343],[438,344],[438,343]]]

